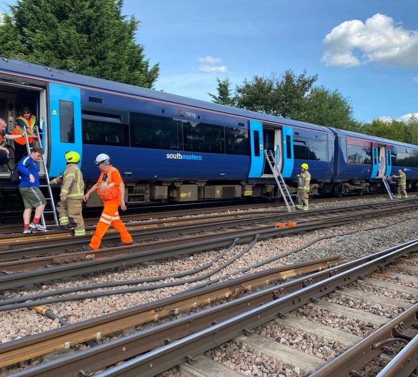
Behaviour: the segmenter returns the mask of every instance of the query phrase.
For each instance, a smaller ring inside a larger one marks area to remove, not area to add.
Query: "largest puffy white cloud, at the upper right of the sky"
[[[321,61],[326,65],[352,67],[379,62],[397,66],[418,66],[418,30],[395,24],[392,17],[376,13],[365,23],[350,20],[328,33]]]

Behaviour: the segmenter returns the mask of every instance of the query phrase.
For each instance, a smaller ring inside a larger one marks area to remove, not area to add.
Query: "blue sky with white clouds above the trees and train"
[[[124,13],[160,63],[156,89],[209,100],[216,77],[307,69],[360,120],[418,113],[417,1],[125,0]]]

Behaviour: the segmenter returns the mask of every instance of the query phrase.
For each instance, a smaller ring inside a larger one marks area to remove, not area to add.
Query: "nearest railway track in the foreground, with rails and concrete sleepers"
[[[418,278],[407,275],[403,264],[416,261],[417,254],[411,255],[411,253],[417,251],[418,239],[415,239],[354,261],[340,263],[303,277],[294,278],[282,284],[271,285],[272,280],[268,279],[267,275],[259,276],[259,290],[256,291],[254,291],[253,283],[245,280],[250,276],[246,276],[213,286],[210,293],[207,291],[209,288],[183,292],[142,307],[131,308],[2,344],[0,345],[1,365],[16,362],[19,357],[21,360],[33,357],[38,347],[45,353],[53,349],[69,348],[87,339],[99,339],[102,337],[101,329],[107,328],[104,330],[106,333],[109,329],[116,331],[121,328],[115,325],[115,320],[122,320],[119,323],[125,323],[126,326],[131,325],[132,322],[124,321],[125,316],[131,316],[131,320],[137,321],[135,323],[144,323],[166,317],[167,313],[177,315],[181,312],[190,312],[198,305],[212,302],[217,305],[45,362],[16,373],[13,377],[92,376],[93,374],[100,377],[147,377],[156,376],[176,365],[181,365],[181,370],[186,371],[189,376],[193,376],[193,373],[197,376],[200,373],[200,375],[215,377],[222,375],[221,372],[226,367],[204,356],[203,352],[232,339],[235,339],[237,345],[244,345],[248,351],[268,355],[269,358],[281,363],[280,365],[298,368],[300,373],[308,365],[307,372],[316,369],[313,374],[315,377],[345,376],[353,369],[360,371],[376,356],[384,354],[388,345],[396,345],[395,342],[401,339],[402,343],[408,343],[408,346],[388,364],[387,369],[395,373],[392,374],[393,376],[407,376],[407,374],[401,374],[402,368],[399,365],[405,365],[402,361],[409,360],[408,371],[417,367],[417,355],[414,350],[417,347],[418,304],[389,299],[373,291],[361,290],[359,287],[385,286],[417,297],[418,289],[416,288],[401,285],[399,282],[388,283],[378,280],[382,277],[391,278],[395,274],[402,276],[404,282],[416,283]],[[403,258],[401,264],[397,262],[400,258]],[[385,269],[383,266],[386,266]],[[394,273],[393,268],[403,273]],[[275,272],[280,274],[279,271]],[[256,277],[253,275],[252,278]],[[279,279],[280,275],[276,275],[273,280]],[[270,285],[264,286],[261,282]],[[334,304],[327,299],[331,292],[353,300],[360,299],[396,308],[402,307],[404,311],[394,319],[378,316],[352,309],[349,305]],[[223,299],[224,302],[216,301],[219,299]],[[303,318],[300,315],[301,312],[295,312],[298,308],[307,308],[308,311],[325,310],[340,316],[343,313],[342,316],[346,318],[360,318],[377,329],[362,340],[359,336]],[[141,317],[139,313],[145,313],[145,316]],[[328,337],[331,342],[338,342],[349,349],[331,363],[326,364],[323,359],[274,341],[271,337],[262,336],[260,326],[270,321],[281,326],[299,329],[307,337]],[[95,325],[98,326],[95,327]],[[73,337],[74,334],[77,335]],[[55,343],[48,344],[51,341]],[[355,346],[351,348],[353,344]],[[31,354],[28,354],[30,351]],[[384,360],[383,356],[380,357]],[[202,368],[207,369],[202,372]],[[228,371],[229,376],[242,376],[233,370]],[[388,375],[385,374],[385,376]]]

